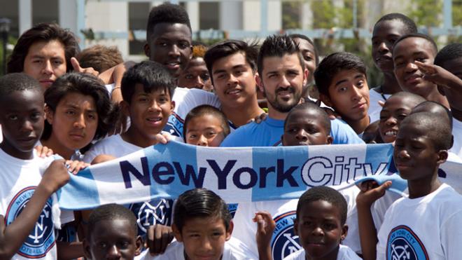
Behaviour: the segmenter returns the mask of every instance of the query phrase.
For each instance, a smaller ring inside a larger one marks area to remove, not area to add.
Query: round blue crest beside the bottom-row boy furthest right
[[[293,233],[293,220],[295,219],[295,210],[283,213],[274,217],[276,228],[271,240],[272,256],[274,260],[280,260],[296,252],[302,247],[298,242],[298,235]]]

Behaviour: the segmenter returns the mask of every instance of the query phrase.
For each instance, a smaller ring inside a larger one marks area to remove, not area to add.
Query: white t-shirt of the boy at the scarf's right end
[[[462,259],[462,196],[442,184],[421,198],[400,198],[386,211],[377,259]]]

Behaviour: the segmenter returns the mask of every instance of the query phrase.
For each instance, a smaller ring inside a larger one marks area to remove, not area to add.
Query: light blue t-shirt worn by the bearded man
[[[278,146],[283,132],[284,121],[267,116],[261,123],[252,122],[237,128],[223,140],[221,146]],[[330,121],[330,135],[334,139],[332,144],[364,144],[356,132],[339,119]]]

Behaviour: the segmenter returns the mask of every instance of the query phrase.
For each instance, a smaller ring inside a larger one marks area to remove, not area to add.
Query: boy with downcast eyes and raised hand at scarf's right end
[[[376,235],[370,222],[370,204],[384,195],[391,182],[378,187],[363,184],[356,200],[364,259],[402,255],[408,259],[462,259],[458,248],[462,231],[457,228],[462,224],[462,196],[437,178],[450,146],[447,118],[420,112],[402,121],[393,160],[400,176],[407,180],[409,198],[400,198],[388,208]]]

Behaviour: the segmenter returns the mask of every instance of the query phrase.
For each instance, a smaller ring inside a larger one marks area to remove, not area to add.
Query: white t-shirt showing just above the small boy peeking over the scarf
[[[183,123],[191,109],[202,104],[208,104],[218,109],[221,107],[220,100],[214,93],[197,88],[175,88],[172,100],[175,102],[175,109],[169,116],[164,130],[177,137],[183,137]]]

